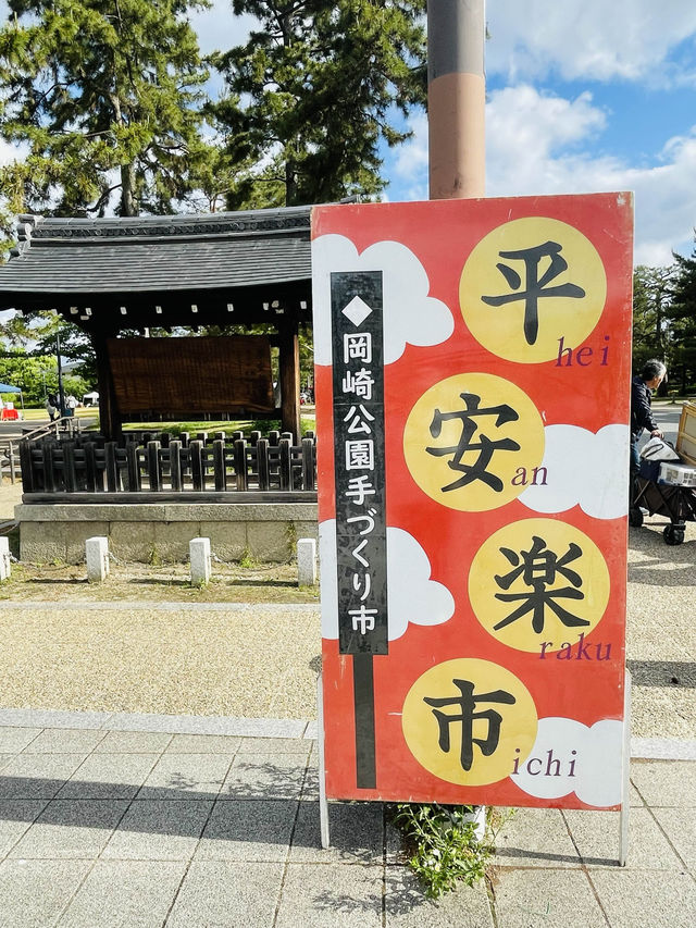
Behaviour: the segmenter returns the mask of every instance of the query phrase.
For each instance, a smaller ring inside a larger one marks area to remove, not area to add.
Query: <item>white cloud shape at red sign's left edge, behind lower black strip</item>
[[[319,525],[321,557],[322,638],[338,638],[336,582],[336,520]],[[387,609],[389,641],[401,638],[408,623],[437,626],[450,619],[455,599],[449,590],[431,580],[427,555],[403,529],[387,525]]]

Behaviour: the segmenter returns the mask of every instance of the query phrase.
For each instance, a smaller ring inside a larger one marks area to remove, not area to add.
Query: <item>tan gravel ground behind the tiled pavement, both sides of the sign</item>
[[[16,495],[0,488],[0,521]],[[630,533],[632,733],[696,739],[696,523],[679,546],[663,524]],[[97,587],[84,567],[15,566],[0,587],[0,705],[314,718],[316,592],[290,565],[215,574],[199,591],[183,566],[116,566]]]

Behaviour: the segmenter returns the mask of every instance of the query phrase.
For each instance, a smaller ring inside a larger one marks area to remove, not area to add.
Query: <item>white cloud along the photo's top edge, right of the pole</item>
[[[486,13],[486,69],[510,81],[551,71],[568,81],[683,81],[666,60],[696,34],[696,4],[684,0],[492,0]]]

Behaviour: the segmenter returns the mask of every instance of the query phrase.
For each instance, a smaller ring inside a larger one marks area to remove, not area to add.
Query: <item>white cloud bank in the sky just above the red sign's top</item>
[[[695,8],[696,9],[696,8]],[[652,163],[596,154],[607,123],[591,94],[573,100],[520,85],[495,90],[486,106],[486,194],[550,196],[635,193],[635,263],[670,264],[672,249],[691,253],[696,189],[696,125],[670,139]],[[394,177],[405,196],[427,198],[427,121],[399,151]]]

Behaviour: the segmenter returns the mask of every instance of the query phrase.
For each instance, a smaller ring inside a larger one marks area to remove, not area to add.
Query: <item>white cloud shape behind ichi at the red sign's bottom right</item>
[[[510,779],[538,799],[575,793],[587,805],[619,805],[622,747],[623,722],[617,719],[602,719],[588,728],[572,718],[543,718],[529,758]]]

